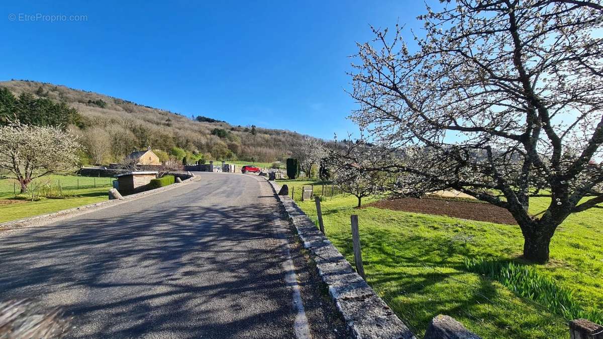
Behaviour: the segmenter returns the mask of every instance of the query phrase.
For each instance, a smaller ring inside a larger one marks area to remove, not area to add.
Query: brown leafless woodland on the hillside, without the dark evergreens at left
[[[83,130],[76,133],[86,134],[95,128],[106,134],[113,142],[113,159],[119,160],[133,149],[146,148],[169,150],[180,147],[185,150],[210,154],[218,159],[229,150],[238,159],[272,162],[287,157],[300,144],[303,136],[288,130],[256,128],[256,134],[250,127],[233,126],[226,122],[198,122],[186,116],[168,110],[142,106],[127,100],[107,95],[72,89],[37,81],[11,80],[1,81],[0,86],[7,87],[15,95],[32,93],[38,97],[62,100],[75,107],[84,118]],[[40,90],[41,88],[41,90]],[[97,103],[102,100],[105,104]],[[229,131],[226,138],[212,135],[214,128]]]

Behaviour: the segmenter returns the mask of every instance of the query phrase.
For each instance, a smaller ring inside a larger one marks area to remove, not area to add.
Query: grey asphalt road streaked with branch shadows
[[[248,175],[198,179],[0,233],[0,299],[65,306],[75,338],[295,338],[273,192]]]

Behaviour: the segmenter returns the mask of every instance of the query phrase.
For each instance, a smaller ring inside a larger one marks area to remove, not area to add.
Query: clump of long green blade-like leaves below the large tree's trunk
[[[603,322],[603,312],[582,309],[573,299],[572,291],[560,287],[549,277],[541,276],[532,267],[483,258],[465,259],[465,267],[470,272],[498,280],[515,294],[535,300],[566,319],[586,318],[594,323]]]

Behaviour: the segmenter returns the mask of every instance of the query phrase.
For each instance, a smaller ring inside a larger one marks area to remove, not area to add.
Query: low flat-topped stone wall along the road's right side
[[[268,181],[276,194],[280,186]],[[329,239],[286,195],[276,195],[303,246],[312,253],[318,274],[329,288],[329,296],[346,321],[353,338],[416,339],[389,306],[356,273]]]

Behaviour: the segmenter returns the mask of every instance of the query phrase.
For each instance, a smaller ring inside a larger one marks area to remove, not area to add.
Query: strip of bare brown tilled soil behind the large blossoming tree
[[[432,198],[399,198],[380,200],[365,205],[391,209],[393,211],[415,212],[423,214],[446,215],[447,217],[463,218],[490,223],[516,225],[517,221],[504,208],[493,204],[473,203],[469,201],[432,199]]]

